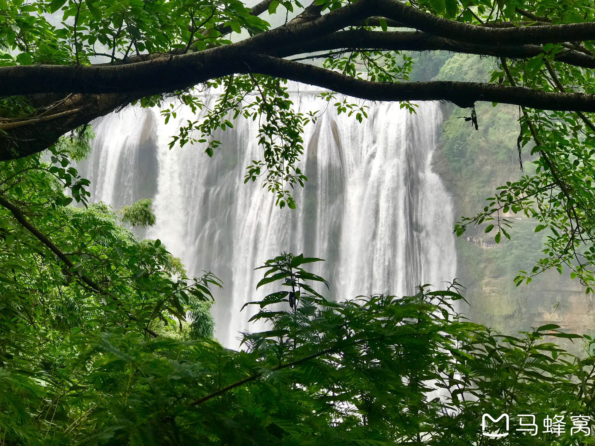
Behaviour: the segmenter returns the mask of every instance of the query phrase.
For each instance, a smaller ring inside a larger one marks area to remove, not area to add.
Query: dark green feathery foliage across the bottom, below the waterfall
[[[593,357],[543,342],[577,335],[549,324],[502,337],[466,322],[456,282],[328,301],[306,283],[324,283],[303,268],[318,260],[265,263],[261,285],[292,291],[254,302],[252,320],[270,328],[245,333],[241,351],[210,337],[146,338],[109,313],[78,313],[83,328],[60,331],[30,304],[3,312],[0,340],[15,336],[0,346],[2,443],[482,444],[483,413],[592,414]],[[513,431],[504,442],[584,439]]]

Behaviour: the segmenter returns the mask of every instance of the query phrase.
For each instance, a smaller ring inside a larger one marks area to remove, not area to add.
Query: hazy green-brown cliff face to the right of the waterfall
[[[444,67],[452,70],[456,62]],[[461,65],[465,66],[465,65]],[[445,71],[440,70],[441,74]],[[464,70],[462,70],[464,73]],[[436,78],[440,78],[441,75]],[[452,77],[449,77],[452,78]],[[465,77],[455,78],[465,80]],[[479,130],[464,119],[468,110],[444,106],[439,148],[434,155],[434,169],[443,178],[455,203],[455,220],[483,211],[485,199],[496,188],[521,175],[533,174],[530,148],[522,150],[524,171],[516,147],[518,109],[511,106],[480,104],[477,106]],[[510,234],[499,246],[494,233],[484,232],[487,223],[468,227],[457,240],[458,279],[466,287],[469,307],[462,309],[473,322],[481,323],[503,334],[513,335],[547,323],[560,325],[565,332],[595,332],[595,296],[565,272],[548,271],[533,278],[530,284],[515,287],[513,279],[519,270],[531,271],[543,253],[546,231],[534,233],[537,222],[522,215],[511,215]],[[469,237],[469,240],[468,240]],[[475,242],[474,242],[475,239]],[[486,246],[483,246],[483,244]],[[481,246],[480,246],[481,245]],[[578,353],[580,341],[557,340],[563,347]]]

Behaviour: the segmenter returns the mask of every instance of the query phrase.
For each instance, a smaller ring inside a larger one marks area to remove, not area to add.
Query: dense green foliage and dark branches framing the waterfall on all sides
[[[269,329],[224,348],[209,313],[219,279],[133,235],[155,223],[151,200],[89,203],[74,162],[91,150],[89,123],[130,104],[165,121],[190,108],[170,147],[207,156],[225,149],[217,131],[258,119],[262,156],[245,181],[291,212],[293,187],[307,187],[303,128],[320,112],[297,111],[287,80],[325,89],[354,125],[367,118],[359,99],[411,113],[448,101],[475,128],[475,103],[512,104],[524,176],[455,231],[481,225],[500,243],[524,214],[548,235],[517,284],[567,268],[592,292],[593,11],[587,0],[0,1],[0,445],[468,445],[483,444],[485,412],[592,416],[588,336],[579,359],[544,341],[580,338],[555,324],[498,335],[456,315],[456,282],[337,303],[313,285],[327,284],[307,269],[320,259],[284,253],[263,266],[272,292],[253,303]],[[494,68],[487,82],[410,82],[423,63],[411,52],[424,51]],[[213,108],[195,95],[206,89],[220,92]]]

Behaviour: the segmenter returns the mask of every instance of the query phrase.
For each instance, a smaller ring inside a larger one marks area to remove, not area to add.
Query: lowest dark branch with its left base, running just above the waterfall
[[[312,44],[306,43],[299,48],[284,51],[286,53],[299,53],[306,51],[306,49],[320,49],[324,45],[328,47],[343,46],[346,43],[356,44],[357,39],[361,38],[358,36],[364,35],[366,39],[375,39],[375,36],[377,36],[375,32],[348,31],[344,33],[331,34],[328,37],[328,45],[320,40]],[[393,40],[395,46],[401,45],[400,48],[406,45],[409,45],[408,48],[421,48],[422,44],[429,46],[433,45],[433,42],[436,42],[435,40],[431,40],[436,39],[436,37],[431,37],[430,40],[419,43],[419,36],[422,37],[422,40],[426,37],[430,39],[427,34],[423,33],[390,33],[389,39]],[[437,45],[442,45],[443,43],[436,42]],[[452,42],[446,42],[444,45],[454,44]],[[522,48],[525,51],[525,46]],[[473,48],[465,49],[468,51],[473,50]],[[499,48],[499,50],[502,49],[502,47]],[[533,51],[531,48],[529,50]],[[516,51],[515,54],[517,56],[521,55],[518,49],[510,49],[510,51]],[[572,56],[574,57],[575,55],[573,54]],[[130,103],[143,96],[173,91],[176,86],[170,84],[173,81],[172,78],[175,79],[178,88],[180,88],[201,83],[209,78],[223,77],[228,74],[261,73],[318,85],[363,99],[448,100],[462,107],[472,106],[478,100],[486,100],[490,102],[512,103],[537,109],[578,112],[595,111],[595,95],[585,95],[583,93],[546,93],[522,87],[506,87],[483,83],[371,83],[361,79],[349,78],[333,71],[280,58],[246,54],[241,48],[234,48],[233,45],[215,48],[212,52],[209,50],[206,52],[173,56],[171,58],[160,57],[153,61],[131,65],[102,65],[99,67],[46,66],[45,68],[48,68],[52,76],[49,76],[48,71],[43,68],[43,65],[8,68],[17,68],[18,70],[4,71],[4,68],[0,68],[0,86],[2,86],[0,90],[2,88],[14,89],[14,91],[22,93],[22,90],[27,88],[46,89],[49,86],[49,90],[51,90],[55,85],[59,84],[57,88],[65,90],[65,92],[80,89],[93,91],[96,89],[123,88],[128,90],[128,94],[71,95],[56,112],[60,113],[68,109],[80,108],[78,113],[62,115],[52,120],[52,125],[46,125],[44,123],[27,125],[20,128],[12,128],[7,130],[6,134],[0,135],[0,160],[21,158],[31,153],[40,152],[55,143],[58,137],[67,131],[89,123],[89,121],[97,117],[106,115],[118,108],[118,106]],[[23,70],[20,70],[20,68],[23,68]],[[74,73],[71,70],[74,70]],[[174,73],[170,73],[170,70],[173,70]],[[62,77],[64,73],[68,73],[66,78],[69,79],[70,84],[64,81],[64,77]],[[141,91],[131,93],[137,90]],[[60,100],[63,96],[43,95],[43,98],[46,99],[45,104],[47,105]],[[43,105],[43,103],[40,104]]]

